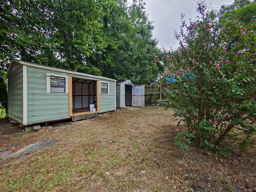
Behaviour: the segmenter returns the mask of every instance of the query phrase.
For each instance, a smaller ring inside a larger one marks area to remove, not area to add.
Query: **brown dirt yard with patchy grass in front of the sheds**
[[[171,114],[125,108],[32,132],[0,120],[0,191],[256,191],[256,150],[181,151]]]

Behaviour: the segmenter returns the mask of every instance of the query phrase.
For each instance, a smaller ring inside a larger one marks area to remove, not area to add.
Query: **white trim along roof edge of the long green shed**
[[[42,69],[47,69],[47,70],[52,70],[52,71],[58,71],[58,72],[64,72],[64,73],[69,73],[69,74],[76,74],[76,75],[81,75],[81,76],[86,76],[86,78],[88,79],[88,77],[91,78],[99,78],[99,79],[104,79],[104,80],[110,80],[110,81],[115,81],[115,79],[111,79],[111,78],[107,78],[107,77],[102,77],[102,76],[96,76],[96,75],[90,75],[90,74],[86,74],[86,73],[80,73],[80,72],[75,72],[75,71],[69,71],[69,70],[65,70],[65,69],[58,69],[55,67],[51,67],[51,66],[44,66],[44,65],[40,65],[40,64],[35,64],[35,63],[30,63],[30,62],[25,62],[22,60],[13,60],[8,68],[7,71],[7,76],[9,76],[11,68],[12,68],[12,64],[16,62],[22,65],[26,65],[26,66],[32,66],[32,67],[36,67],[36,68],[42,68]],[[93,79],[92,79],[93,80]]]

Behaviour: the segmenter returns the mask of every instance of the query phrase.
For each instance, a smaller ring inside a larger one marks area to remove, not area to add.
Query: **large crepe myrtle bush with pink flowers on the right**
[[[225,139],[246,134],[250,140],[256,133],[256,28],[237,22],[217,29],[205,10],[199,4],[200,20],[186,31],[182,20],[175,34],[181,48],[165,57],[162,79],[176,82],[164,90],[160,103],[170,103],[166,109],[188,128],[188,134],[175,137],[176,144],[188,150],[184,144],[195,136],[196,145],[211,153],[221,150]]]

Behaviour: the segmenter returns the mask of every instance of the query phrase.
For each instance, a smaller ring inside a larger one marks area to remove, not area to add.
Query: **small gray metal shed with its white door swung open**
[[[145,85],[134,85],[131,80],[116,82],[116,108],[145,106]]]

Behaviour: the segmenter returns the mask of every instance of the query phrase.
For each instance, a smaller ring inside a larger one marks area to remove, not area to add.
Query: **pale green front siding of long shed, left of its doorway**
[[[27,68],[28,124],[70,118],[68,93],[47,93],[46,73],[53,72],[31,66]]]

